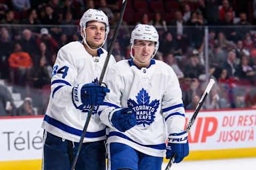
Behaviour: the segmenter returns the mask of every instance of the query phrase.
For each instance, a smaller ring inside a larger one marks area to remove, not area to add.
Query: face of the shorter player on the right
[[[147,40],[135,40],[133,49],[135,60],[145,63],[148,62],[153,55],[155,42]]]

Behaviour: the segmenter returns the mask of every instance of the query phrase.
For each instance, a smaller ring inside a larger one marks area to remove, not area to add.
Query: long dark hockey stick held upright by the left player
[[[122,19],[123,19],[123,15],[124,15],[124,11],[125,11],[125,7],[126,7],[126,4],[127,4],[127,1],[123,0],[122,10],[121,10],[121,13],[120,13],[120,16],[119,16],[119,19],[118,19],[118,22],[117,22],[117,25],[116,25],[116,28],[115,28],[114,36],[113,36],[113,38],[111,40],[110,48],[108,50],[108,55],[106,57],[105,63],[103,65],[103,69],[102,69],[101,74],[100,74],[99,84],[102,83],[102,80],[104,78],[105,72],[107,70],[108,61],[109,61],[111,53],[113,52],[113,48],[114,48],[114,45],[115,45],[116,37],[118,35],[119,27],[120,27]],[[82,136],[81,136],[81,138],[79,140],[79,146],[78,146],[78,149],[77,149],[77,152],[76,152],[76,157],[74,159],[74,162],[71,165],[71,170],[75,169],[76,162],[77,162],[77,159],[78,159],[78,156],[79,156],[79,152],[81,151],[82,143],[83,143],[83,140],[84,140],[84,137],[85,137],[85,133],[87,131],[87,128],[88,128],[88,125],[89,125],[89,122],[90,122],[90,119],[91,119],[94,107],[95,107],[94,105],[91,106],[90,113],[88,114],[88,116],[86,118],[86,122],[84,124],[83,133],[82,133]]]

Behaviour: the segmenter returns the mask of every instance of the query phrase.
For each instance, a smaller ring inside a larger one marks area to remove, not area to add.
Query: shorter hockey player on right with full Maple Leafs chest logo
[[[130,43],[132,59],[109,69],[110,93],[100,106],[100,120],[110,127],[108,169],[159,170],[163,157],[175,153],[179,163],[189,152],[181,89],[172,68],[153,60],[159,46],[154,26],[138,24]]]

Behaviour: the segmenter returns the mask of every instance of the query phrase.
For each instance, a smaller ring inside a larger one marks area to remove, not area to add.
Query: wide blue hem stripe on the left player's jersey
[[[60,121],[57,121],[55,120],[54,118],[48,116],[48,115],[45,115],[44,116],[44,121],[55,126],[56,128],[59,128],[61,129],[62,131],[65,131],[65,132],[68,132],[68,133],[71,133],[71,134],[75,134],[79,137],[82,136],[82,133],[83,131],[81,130],[78,130],[78,129],[75,129],[75,128],[72,128]],[[99,138],[99,137],[103,137],[106,135],[106,129],[103,129],[101,131],[98,131],[98,132],[86,132],[85,133],[85,138]]]

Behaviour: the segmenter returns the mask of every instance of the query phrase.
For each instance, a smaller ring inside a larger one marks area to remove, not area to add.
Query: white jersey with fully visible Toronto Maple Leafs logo
[[[110,93],[99,114],[110,127],[107,143],[124,143],[144,154],[164,157],[167,134],[182,132],[185,126],[181,89],[172,68],[151,60],[149,67],[138,69],[132,60],[124,60],[109,69],[105,83]],[[114,111],[122,107],[137,115],[137,125],[125,132],[110,122]]]

